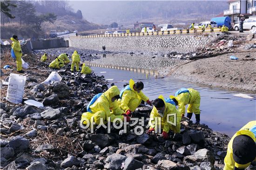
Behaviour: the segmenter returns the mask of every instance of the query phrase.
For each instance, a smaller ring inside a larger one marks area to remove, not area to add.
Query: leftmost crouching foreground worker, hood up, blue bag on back
[[[115,118],[120,118],[122,121],[126,118],[129,122],[130,117],[126,116],[117,104],[119,95],[120,91],[115,85],[106,92],[95,95],[87,106],[87,112],[82,114],[81,124],[83,126],[88,123],[90,125],[107,124],[109,118],[112,123]]]

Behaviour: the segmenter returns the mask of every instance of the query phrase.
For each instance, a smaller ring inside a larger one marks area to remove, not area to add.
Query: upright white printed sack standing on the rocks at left
[[[20,104],[22,102],[26,76],[11,73],[7,88],[7,100],[11,103]]]

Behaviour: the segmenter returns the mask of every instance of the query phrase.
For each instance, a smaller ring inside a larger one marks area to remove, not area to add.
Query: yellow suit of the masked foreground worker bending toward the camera
[[[160,95],[158,98],[161,98],[164,101],[165,105],[165,110],[163,112],[163,117],[158,113],[157,109],[155,106],[153,107],[151,113],[150,113],[150,122],[154,124],[156,127],[159,127],[159,124],[161,123],[161,129],[168,133],[170,130],[172,130],[174,133],[180,133],[181,132],[181,119],[182,116],[180,112],[176,109],[175,105],[172,105],[170,103],[166,103],[163,96]],[[169,116],[167,117],[168,114],[176,114],[176,126],[173,124],[168,123],[168,118],[170,122],[174,123],[174,117],[175,116]],[[155,122],[155,118],[161,118],[161,122]],[[150,128],[155,128],[151,127]]]

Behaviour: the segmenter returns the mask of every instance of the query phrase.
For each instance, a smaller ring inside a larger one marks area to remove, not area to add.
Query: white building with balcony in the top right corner
[[[240,16],[256,19],[256,0],[229,0],[229,9],[224,16],[229,16],[232,23],[238,23]]]

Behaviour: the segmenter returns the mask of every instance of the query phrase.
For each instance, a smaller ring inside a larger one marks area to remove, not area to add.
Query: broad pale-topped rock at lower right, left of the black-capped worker
[[[183,161],[189,163],[201,163],[201,162],[210,162],[214,164],[215,158],[213,153],[207,149],[197,150],[193,155],[184,157]]]

